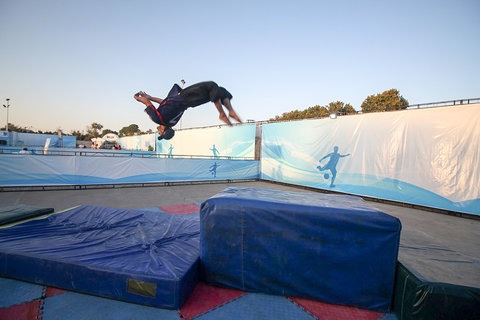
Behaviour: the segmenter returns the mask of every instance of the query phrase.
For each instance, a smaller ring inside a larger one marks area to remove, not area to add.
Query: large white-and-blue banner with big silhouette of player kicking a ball
[[[480,214],[480,105],[263,125],[261,178]]]

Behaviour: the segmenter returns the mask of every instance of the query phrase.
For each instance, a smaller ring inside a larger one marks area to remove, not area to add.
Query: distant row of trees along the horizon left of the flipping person
[[[1,128],[1,130],[6,130],[6,128],[3,127]],[[153,133],[152,129],[148,129],[146,132],[140,130],[140,128],[136,124],[125,126],[122,129],[120,129],[120,131],[114,131],[110,129],[104,129],[103,125],[97,122],[94,122],[90,126],[87,126],[86,131],[73,130],[70,133],[63,132],[63,130],[61,129],[58,129],[57,131],[34,130],[31,127],[20,127],[12,123],[8,124],[8,130],[15,131],[15,132],[23,132],[23,133],[42,133],[42,134],[57,134],[58,131],[62,131],[63,134],[75,136],[77,137],[77,140],[81,140],[81,141],[89,141],[92,138],[103,137],[104,135],[109,133],[114,133],[120,137]]]

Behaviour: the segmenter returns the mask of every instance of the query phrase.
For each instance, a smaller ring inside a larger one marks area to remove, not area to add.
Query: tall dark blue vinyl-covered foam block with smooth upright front
[[[200,210],[208,284],[387,311],[400,221],[358,197],[228,188]]]

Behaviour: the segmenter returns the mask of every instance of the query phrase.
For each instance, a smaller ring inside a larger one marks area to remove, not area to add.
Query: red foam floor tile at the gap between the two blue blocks
[[[194,319],[246,295],[245,291],[217,288],[199,282],[180,309],[180,317]]]

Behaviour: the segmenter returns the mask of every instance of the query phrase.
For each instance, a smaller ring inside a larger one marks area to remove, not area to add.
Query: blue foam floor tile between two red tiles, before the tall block
[[[220,308],[198,317],[199,320],[312,320],[302,309],[285,297],[249,293]]]

